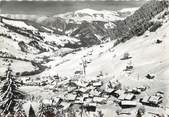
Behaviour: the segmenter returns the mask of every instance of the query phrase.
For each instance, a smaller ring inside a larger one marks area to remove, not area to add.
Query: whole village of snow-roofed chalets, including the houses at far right
[[[107,104],[111,96],[116,99],[116,103],[121,108],[136,107],[140,103],[148,106],[159,106],[163,99],[162,92],[137,99],[138,95],[146,90],[146,87],[122,89],[119,81],[104,83],[101,80],[71,79],[58,83],[50,90],[63,95],[58,95],[51,99],[43,99],[42,103],[47,106],[55,106],[61,110],[69,110],[74,105],[79,105],[79,108],[95,112],[97,106]],[[112,102],[115,102],[115,100],[112,100]]]

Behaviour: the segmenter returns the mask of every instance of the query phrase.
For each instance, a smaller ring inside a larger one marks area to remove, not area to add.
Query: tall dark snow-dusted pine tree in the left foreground
[[[18,86],[18,83],[12,76],[12,70],[8,68],[6,72],[6,81],[1,88],[0,96],[0,108],[3,110],[3,113],[14,112],[14,107],[19,99],[24,98],[25,94],[18,90]]]

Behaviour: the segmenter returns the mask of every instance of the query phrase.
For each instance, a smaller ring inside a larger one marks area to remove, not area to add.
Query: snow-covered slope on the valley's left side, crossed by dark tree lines
[[[9,64],[14,73],[20,75],[40,73],[44,70],[41,64],[49,61],[49,56],[59,56],[59,48],[76,48],[80,46],[78,39],[54,34],[42,26],[42,32],[32,23],[26,21],[1,18],[0,22],[0,76],[4,76]],[[24,65],[22,65],[24,64]],[[16,68],[15,68],[16,67]],[[23,69],[25,68],[25,69]]]

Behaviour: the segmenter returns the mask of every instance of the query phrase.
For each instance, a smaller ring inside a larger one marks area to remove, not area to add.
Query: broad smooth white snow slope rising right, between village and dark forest
[[[153,18],[153,20],[157,20],[157,17]],[[53,61],[47,64],[51,69],[47,69],[39,76],[54,76],[58,74],[62,77],[72,78],[77,75],[75,74],[76,71],[83,71],[82,60],[86,60],[85,79],[97,79],[97,75],[101,71],[103,77],[99,77],[99,79],[105,82],[107,80],[118,80],[123,84],[123,87],[149,86],[146,91],[148,95],[156,91],[165,92],[164,106],[168,106],[168,30],[169,16],[165,16],[163,26],[158,28],[156,32],[146,31],[142,36],[133,37],[116,47],[113,47],[114,42],[109,42],[91,48],[84,48],[79,52],[62,58],[53,58]],[[156,43],[158,39],[162,42]],[[126,52],[130,54],[131,58],[121,60]],[[126,66],[133,66],[133,69],[125,71]],[[145,77],[147,74],[155,74],[155,79],[147,79]],[[107,113],[107,115],[109,114]]]

